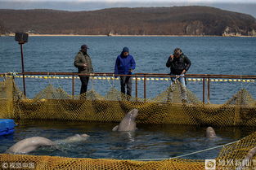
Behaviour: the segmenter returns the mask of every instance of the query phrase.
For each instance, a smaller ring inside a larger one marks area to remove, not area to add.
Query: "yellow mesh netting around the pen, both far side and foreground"
[[[33,120],[85,120],[119,122],[125,113],[137,108],[137,123],[195,124],[212,126],[255,126],[256,101],[245,89],[221,105],[204,104],[189,89],[186,102],[182,88],[176,83],[155,98],[130,98],[111,88],[102,96],[95,90],[72,96],[61,88],[47,85],[34,98],[25,98],[11,78],[0,82],[0,118]],[[256,133],[225,146],[216,158],[218,169],[227,166],[223,160],[244,159],[255,147]],[[255,159],[255,155],[254,158]],[[75,159],[36,155],[0,155],[1,163],[34,163],[37,169],[204,169],[204,160],[165,159],[132,161],[117,159]],[[239,165],[233,163],[230,169]],[[256,168],[251,163],[249,169]]]

